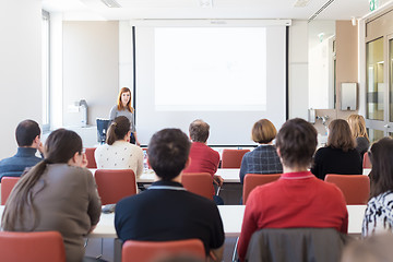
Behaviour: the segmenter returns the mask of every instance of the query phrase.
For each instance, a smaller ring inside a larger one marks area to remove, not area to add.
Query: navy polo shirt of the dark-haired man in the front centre
[[[122,240],[201,239],[206,254],[224,245],[223,222],[215,203],[188,192],[181,183],[154,182],[148,190],[116,205],[115,227]]]

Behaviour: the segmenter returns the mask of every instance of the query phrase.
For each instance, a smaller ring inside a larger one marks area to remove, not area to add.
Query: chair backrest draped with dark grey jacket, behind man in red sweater
[[[335,228],[266,228],[252,235],[246,261],[341,261],[345,242]]]

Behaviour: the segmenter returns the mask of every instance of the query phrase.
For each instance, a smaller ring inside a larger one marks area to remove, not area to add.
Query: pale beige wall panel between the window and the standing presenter
[[[119,92],[119,23],[63,22],[63,126],[80,124],[70,112],[73,102],[85,99],[88,124],[108,118]]]

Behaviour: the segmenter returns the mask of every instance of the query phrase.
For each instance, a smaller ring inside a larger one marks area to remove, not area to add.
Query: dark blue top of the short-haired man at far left
[[[26,167],[35,166],[43,158],[37,157],[37,150],[33,147],[17,147],[14,156],[0,162],[0,179],[5,177],[20,177]]]

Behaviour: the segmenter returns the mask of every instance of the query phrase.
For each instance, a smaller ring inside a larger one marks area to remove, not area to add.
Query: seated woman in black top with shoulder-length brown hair
[[[326,174],[361,175],[362,165],[349,124],[335,119],[329,124],[327,143],[314,155],[311,172],[324,180]]]

